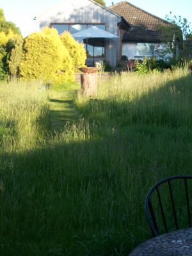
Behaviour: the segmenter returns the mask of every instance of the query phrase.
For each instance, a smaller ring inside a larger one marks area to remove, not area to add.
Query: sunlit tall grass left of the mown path
[[[3,145],[12,141],[10,147],[17,145],[17,148],[24,150],[35,145],[36,141],[44,138],[48,115],[47,92],[40,83],[0,85],[0,131]]]

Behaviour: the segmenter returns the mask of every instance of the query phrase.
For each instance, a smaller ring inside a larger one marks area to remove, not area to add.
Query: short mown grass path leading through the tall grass
[[[79,118],[74,105],[77,90],[51,91],[49,95],[50,130],[60,132],[65,124]]]

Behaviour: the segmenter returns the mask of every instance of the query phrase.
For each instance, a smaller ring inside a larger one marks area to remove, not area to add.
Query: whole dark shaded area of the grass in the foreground
[[[84,113],[98,114],[98,125],[72,125],[34,150],[1,152],[1,255],[127,255],[148,239],[148,189],[192,169],[189,81],[127,104],[90,100]]]

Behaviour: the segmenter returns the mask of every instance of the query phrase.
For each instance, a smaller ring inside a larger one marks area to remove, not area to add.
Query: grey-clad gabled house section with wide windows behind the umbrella
[[[40,15],[38,21],[40,28],[49,26],[58,29],[59,33],[68,30],[71,34],[97,26],[118,36],[119,26],[129,26],[123,24],[120,15],[92,0],[63,0],[51,10]],[[119,56],[119,40],[100,38],[95,41],[84,40],[88,61],[92,63],[106,59],[112,66],[115,66]]]

